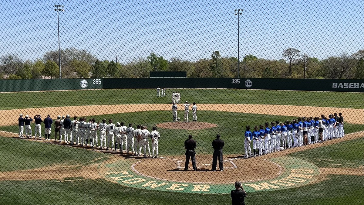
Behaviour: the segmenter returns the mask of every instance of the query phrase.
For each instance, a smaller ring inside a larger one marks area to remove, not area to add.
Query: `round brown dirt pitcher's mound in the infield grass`
[[[205,123],[205,122],[169,122],[169,123],[159,123],[157,127],[166,129],[187,129],[187,130],[197,130],[197,129],[207,129],[211,127],[217,127],[217,124]]]

